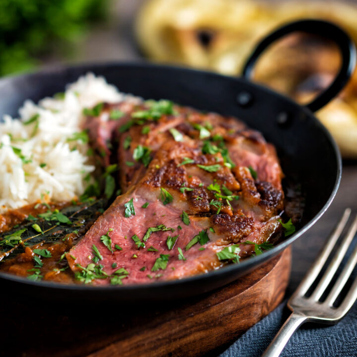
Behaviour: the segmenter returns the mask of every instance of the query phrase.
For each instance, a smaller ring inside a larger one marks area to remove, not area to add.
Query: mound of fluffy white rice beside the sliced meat
[[[82,131],[83,108],[123,99],[103,77],[88,73],[67,86],[63,99],[45,98],[38,105],[28,100],[19,110],[20,120],[5,115],[0,123],[0,213],[38,200],[81,195],[84,178],[95,168],[86,155],[88,144],[67,140]],[[36,121],[23,123],[36,114]]]

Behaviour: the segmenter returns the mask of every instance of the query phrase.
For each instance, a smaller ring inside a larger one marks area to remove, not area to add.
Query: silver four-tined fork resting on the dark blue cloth
[[[357,216],[347,235],[344,237],[340,247],[338,248],[339,250],[332,258],[331,263],[328,265],[325,273],[323,274],[316,288],[313,290],[311,296],[305,297],[306,292],[316,280],[330,253],[336,246],[336,242],[340,237],[343,229],[345,228],[350,214],[351,209],[346,208],[340,222],[331,233],[320,255],[303,278],[293,296],[289,299],[288,307],[293,311],[293,313],[289,316],[288,320],[279,330],[278,334],[275,336],[274,340],[271,342],[262,357],[280,356],[281,352],[287,345],[294,332],[304,322],[312,321],[326,324],[336,323],[346,315],[347,311],[356,301],[357,279],[353,282],[341,304],[338,307],[333,306],[333,303],[341,293],[357,263],[357,247],[353,251],[351,257],[339,275],[337,282],[332,287],[332,290],[329,292],[326,299],[323,302],[319,302],[319,299],[325,292],[326,288],[329,286],[356,234]]]

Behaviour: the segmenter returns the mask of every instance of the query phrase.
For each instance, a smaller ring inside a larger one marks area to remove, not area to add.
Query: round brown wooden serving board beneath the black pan
[[[154,307],[107,304],[57,313],[56,305],[4,303],[1,356],[216,356],[283,299],[291,249],[214,292]]]

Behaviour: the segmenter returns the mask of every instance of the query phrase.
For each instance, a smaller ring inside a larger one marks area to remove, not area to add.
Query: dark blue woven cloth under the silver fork
[[[289,316],[286,301],[252,326],[220,357],[259,357]],[[336,325],[304,324],[281,357],[356,357],[357,303]]]

